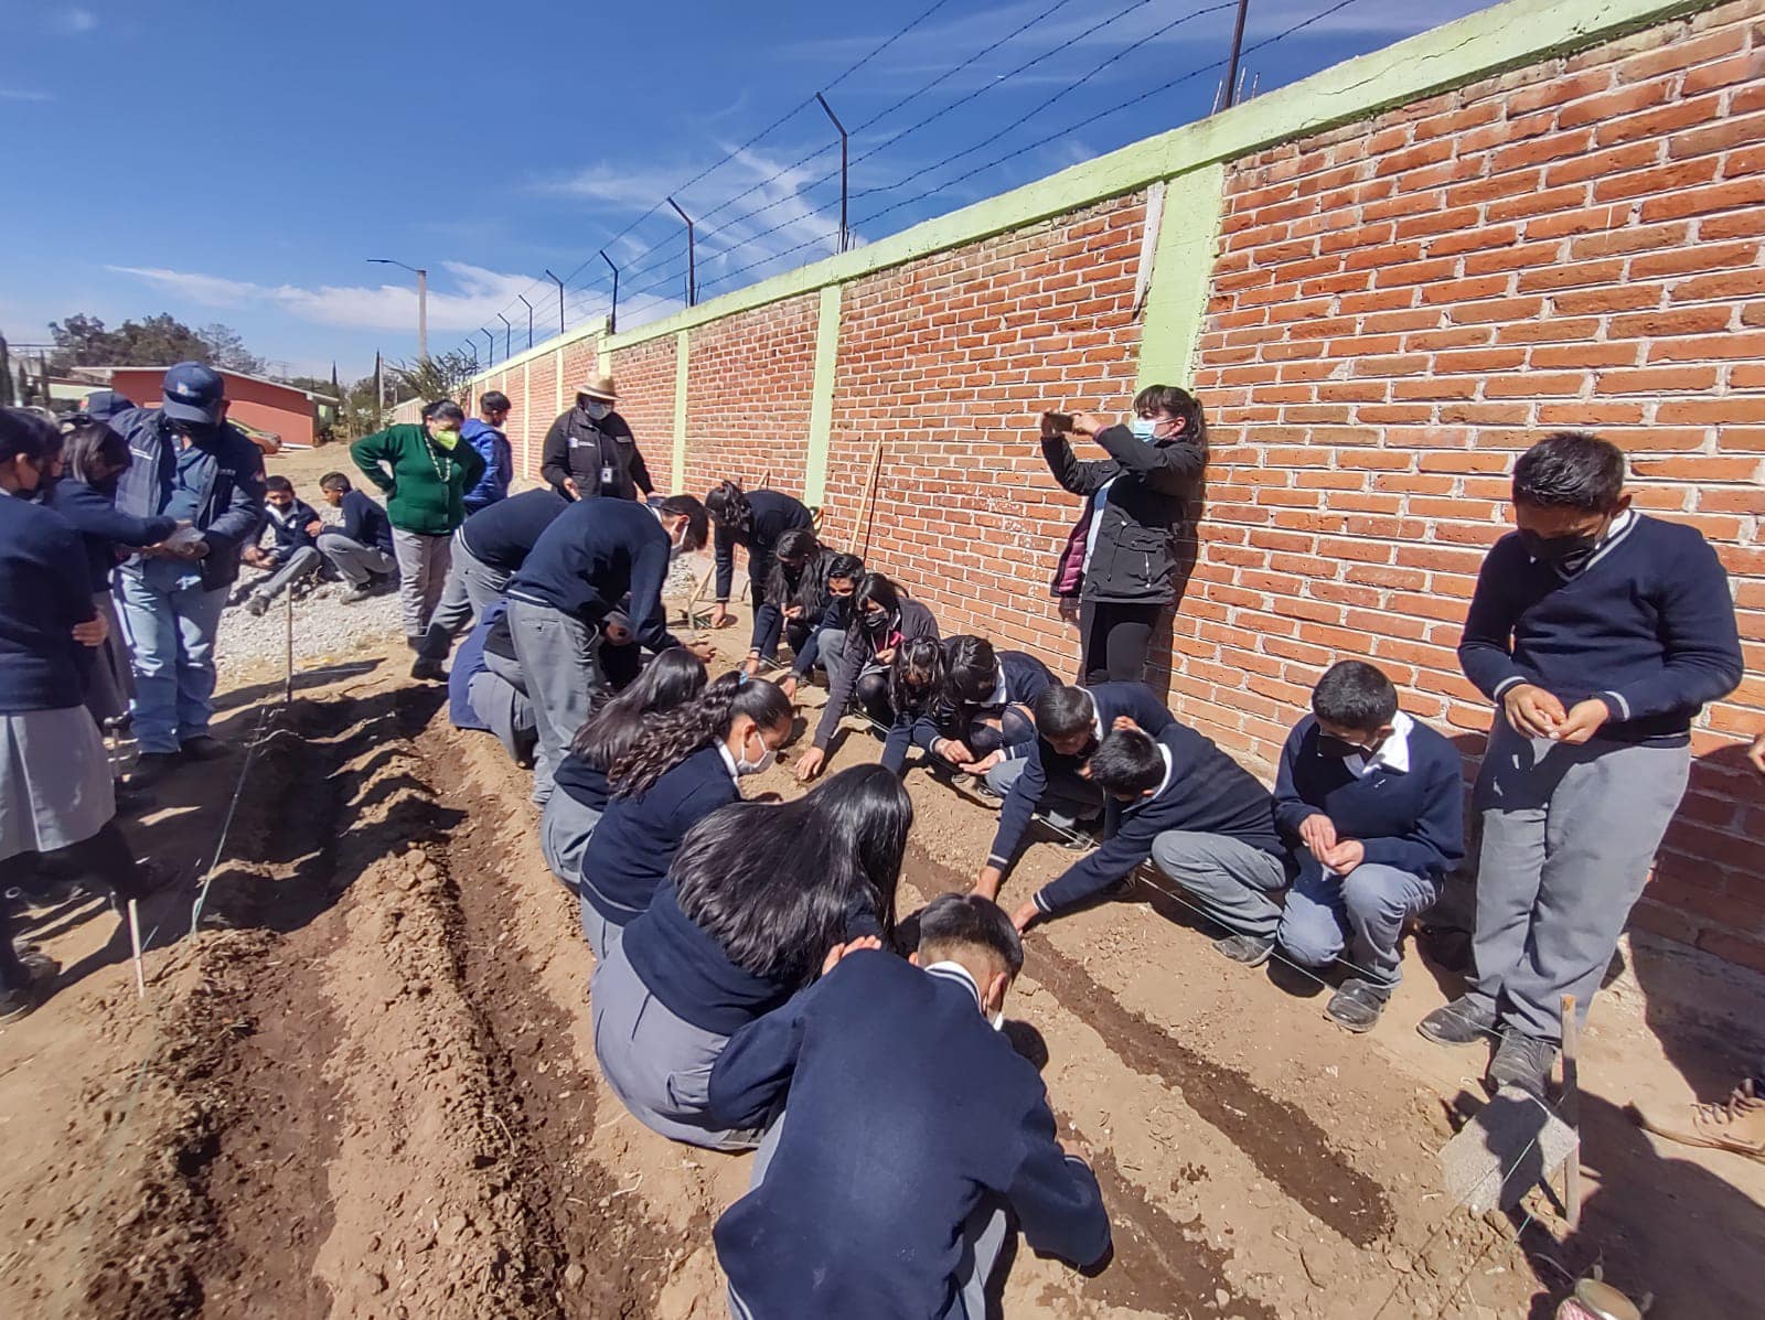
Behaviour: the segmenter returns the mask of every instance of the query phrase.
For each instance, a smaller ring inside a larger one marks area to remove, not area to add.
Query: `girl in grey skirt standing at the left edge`
[[[108,626],[79,533],[32,503],[58,446],[53,422],[0,409],[0,895],[62,872],[139,898],[171,875],[138,866],[116,828],[109,757],[85,706]],[[0,1022],[30,1013],[56,971],[14,948],[0,898]]]

